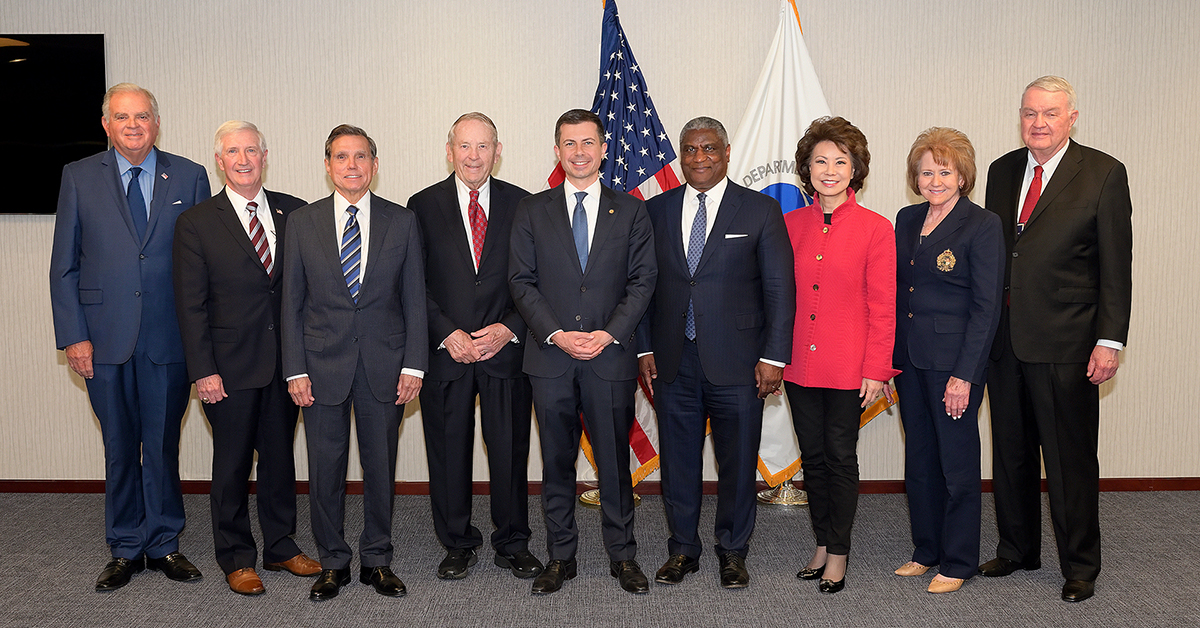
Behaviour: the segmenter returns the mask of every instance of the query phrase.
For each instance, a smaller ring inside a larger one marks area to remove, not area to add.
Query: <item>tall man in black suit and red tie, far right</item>
[[[1000,544],[979,573],[1040,567],[1040,445],[1066,602],[1090,598],[1100,572],[1098,385],[1129,331],[1133,259],[1126,168],[1070,140],[1078,118],[1066,79],[1030,83],[1026,148],[988,171],[1008,255],[988,373]]]

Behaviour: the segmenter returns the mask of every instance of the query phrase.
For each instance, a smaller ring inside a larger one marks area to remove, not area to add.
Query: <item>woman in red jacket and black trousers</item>
[[[858,507],[858,420],[888,388],[895,331],[892,223],[854,201],[870,171],[866,137],[842,118],[809,125],[796,148],[816,201],[784,216],[796,253],[796,329],[784,385],[800,445],[817,548],[796,574],[846,586]],[[822,578],[826,576],[826,578]]]

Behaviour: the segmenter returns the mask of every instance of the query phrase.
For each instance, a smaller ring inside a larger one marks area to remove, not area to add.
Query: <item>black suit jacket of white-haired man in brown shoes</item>
[[[275,378],[287,216],[305,202],[265,193],[275,222],[274,279],[241,226],[242,209],[223,189],[175,223],[175,310],[193,382],[220,375],[226,390],[247,390]]]

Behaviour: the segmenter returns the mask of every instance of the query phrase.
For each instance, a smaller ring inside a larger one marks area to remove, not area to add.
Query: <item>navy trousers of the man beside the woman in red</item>
[[[758,496],[755,473],[762,437],[762,400],[756,385],[713,385],[704,377],[695,342],[683,343],[679,373],[654,382],[659,420],[662,504],[671,538],[667,551],[700,557],[700,504],[703,494],[706,417],[712,420],[716,454],[718,554],[745,557],[754,533]]]

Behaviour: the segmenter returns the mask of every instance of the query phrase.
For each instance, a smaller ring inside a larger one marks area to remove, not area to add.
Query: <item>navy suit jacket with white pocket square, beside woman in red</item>
[[[796,279],[784,214],[774,198],[730,181],[720,208],[709,208],[716,219],[692,276],[683,251],[685,190],[646,204],[659,280],[638,328],[637,352],[654,352],[659,378],[673,382],[691,300],[704,376],[716,385],[752,385],[761,358],[792,359]]]

